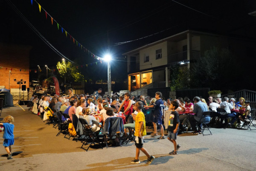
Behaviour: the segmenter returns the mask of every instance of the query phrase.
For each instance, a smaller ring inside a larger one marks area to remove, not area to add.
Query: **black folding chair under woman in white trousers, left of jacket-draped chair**
[[[98,130],[96,132],[93,132],[90,128],[90,125],[88,125],[88,123],[85,119],[79,118],[79,121],[81,122],[81,125],[83,126],[83,133],[84,133],[84,139],[82,140],[83,144],[82,144],[81,148],[84,149],[85,151],[88,151],[90,146],[92,144],[95,145],[95,143],[98,143],[100,145],[100,147],[102,148],[102,145],[101,145],[100,140],[99,140],[100,130]],[[91,141],[91,143],[88,146],[88,148],[87,149],[83,148],[83,146],[86,145],[89,140]]]

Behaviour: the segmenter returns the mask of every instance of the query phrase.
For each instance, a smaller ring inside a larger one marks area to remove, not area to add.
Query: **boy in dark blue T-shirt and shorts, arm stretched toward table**
[[[154,104],[150,105],[150,106],[145,106],[145,107],[149,107],[149,108],[153,108],[154,107],[154,119],[153,119],[153,126],[154,126],[154,133],[151,135],[152,137],[157,136],[157,125],[160,126],[161,129],[161,134],[162,136],[158,137],[157,139],[164,139],[164,132],[163,132],[163,125],[162,125],[162,116],[163,116],[163,101],[161,99],[162,97],[162,93],[161,92],[157,92],[155,95],[155,98],[157,99],[156,102],[154,102]]]

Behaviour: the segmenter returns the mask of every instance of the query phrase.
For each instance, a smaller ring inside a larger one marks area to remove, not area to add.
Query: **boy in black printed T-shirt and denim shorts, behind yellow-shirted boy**
[[[176,109],[179,107],[179,102],[177,101],[172,101],[169,110],[172,110],[172,113],[170,114],[170,119],[168,123],[168,139],[170,142],[173,143],[174,145],[174,150],[170,152],[170,155],[175,155],[177,154],[177,150],[180,148],[180,145],[177,145],[176,139],[177,139],[177,134],[179,132],[179,125],[180,125],[180,119],[179,119],[179,114],[177,113]]]

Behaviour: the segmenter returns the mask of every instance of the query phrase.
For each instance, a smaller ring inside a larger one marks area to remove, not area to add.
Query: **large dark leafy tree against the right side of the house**
[[[229,49],[211,47],[204,55],[191,64],[192,87],[210,87],[223,90],[235,78],[232,68],[235,67],[235,58]]]

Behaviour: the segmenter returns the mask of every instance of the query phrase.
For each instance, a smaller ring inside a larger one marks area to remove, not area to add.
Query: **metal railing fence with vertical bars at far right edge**
[[[239,90],[233,93],[228,93],[221,95],[221,99],[224,97],[228,97],[229,100],[231,98],[234,98],[236,101],[239,101],[240,97],[243,97],[245,100],[250,101],[250,108],[251,109],[256,109],[256,91],[251,91],[251,90]]]

